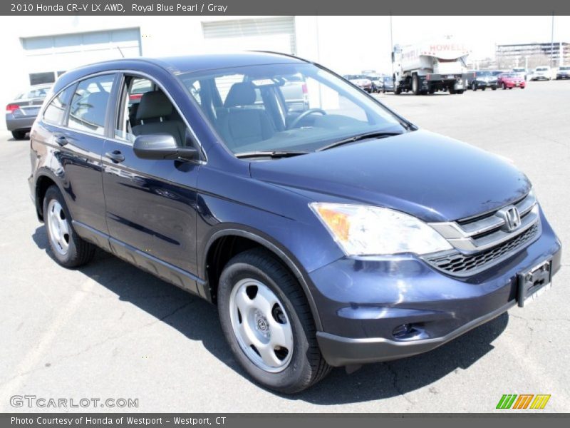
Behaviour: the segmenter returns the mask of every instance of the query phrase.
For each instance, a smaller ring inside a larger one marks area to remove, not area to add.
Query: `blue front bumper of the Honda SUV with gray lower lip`
[[[309,274],[323,331],[318,344],[333,366],[395,360],[426,352],[517,304],[517,273],[551,258],[561,244],[541,213],[540,237],[472,277],[452,277],[413,255],[343,258]],[[395,332],[403,325],[410,334]]]

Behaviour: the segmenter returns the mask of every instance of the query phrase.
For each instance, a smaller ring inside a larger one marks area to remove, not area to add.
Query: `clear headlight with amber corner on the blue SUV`
[[[423,221],[399,211],[338,203],[309,206],[346,255],[427,254],[452,248]]]

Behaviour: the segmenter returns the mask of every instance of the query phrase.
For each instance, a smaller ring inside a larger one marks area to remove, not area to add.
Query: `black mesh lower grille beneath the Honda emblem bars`
[[[534,223],[531,228],[516,238],[507,241],[501,245],[497,245],[489,250],[473,255],[465,255],[459,252],[429,258],[429,262],[437,269],[449,272],[452,275],[472,275],[484,268],[490,267],[514,253],[517,249],[522,248],[525,244],[530,243],[539,233],[539,224]]]

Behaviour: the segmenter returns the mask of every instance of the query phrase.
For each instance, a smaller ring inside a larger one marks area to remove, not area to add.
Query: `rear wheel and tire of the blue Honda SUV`
[[[73,229],[71,214],[59,189],[52,185],[43,198],[43,220],[46,222],[48,243],[57,263],[78,267],[95,255],[95,245],[83,240]]]

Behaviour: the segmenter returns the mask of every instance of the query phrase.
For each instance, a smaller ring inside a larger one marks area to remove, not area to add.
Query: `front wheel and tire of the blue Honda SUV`
[[[330,372],[303,290],[265,250],[247,250],[229,260],[219,279],[218,312],[234,357],[262,386],[293,394]],[[272,344],[272,335],[279,342]]]

